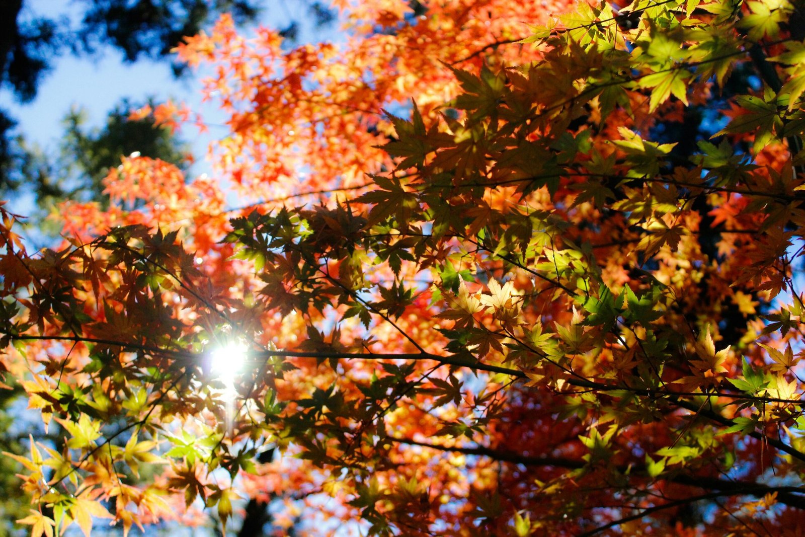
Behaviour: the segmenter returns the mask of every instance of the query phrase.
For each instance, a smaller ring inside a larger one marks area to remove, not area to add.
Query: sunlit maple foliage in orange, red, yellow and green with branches
[[[805,6],[334,5],[180,45],[208,174],[125,156],[36,253],[0,207],[0,365],[67,435],[19,522],[799,535]]]

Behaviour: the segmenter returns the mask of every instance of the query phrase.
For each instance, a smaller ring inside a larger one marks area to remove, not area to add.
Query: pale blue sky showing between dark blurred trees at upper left
[[[314,27],[305,2],[266,0],[263,3],[258,23],[265,27],[282,28],[299,21],[299,43],[325,40],[338,43],[345,40],[337,24]],[[47,16],[76,27],[81,13],[80,2],[27,0],[23,19]],[[243,28],[242,33],[247,37],[254,35],[254,27]],[[225,115],[217,109],[215,101],[203,100],[201,80],[210,74],[212,72],[204,72],[202,68],[176,79],[167,60],[141,59],[127,64],[123,61],[122,53],[113,48],[101,50],[96,56],[66,54],[52,59],[51,69],[42,77],[34,101],[21,103],[6,90],[0,92],[0,108],[8,110],[17,119],[17,132],[46,153],[54,154],[58,151],[59,138],[64,132],[64,118],[71,109],[85,109],[87,126],[99,127],[104,124],[106,114],[123,99],[128,99],[133,105],[149,99],[155,102],[184,102],[188,108],[204,116],[209,129],[207,133],[197,133],[192,126],[188,126],[180,133],[180,138],[188,141],[192,154],[196,156],[196,164],[190,173],[193,176],[211,171],[202,157],[206,155],[210,143],[229,134]],[[33,203],[31,195],[23,194],[12,200],[10,209],[22,214],[31,213]]]

